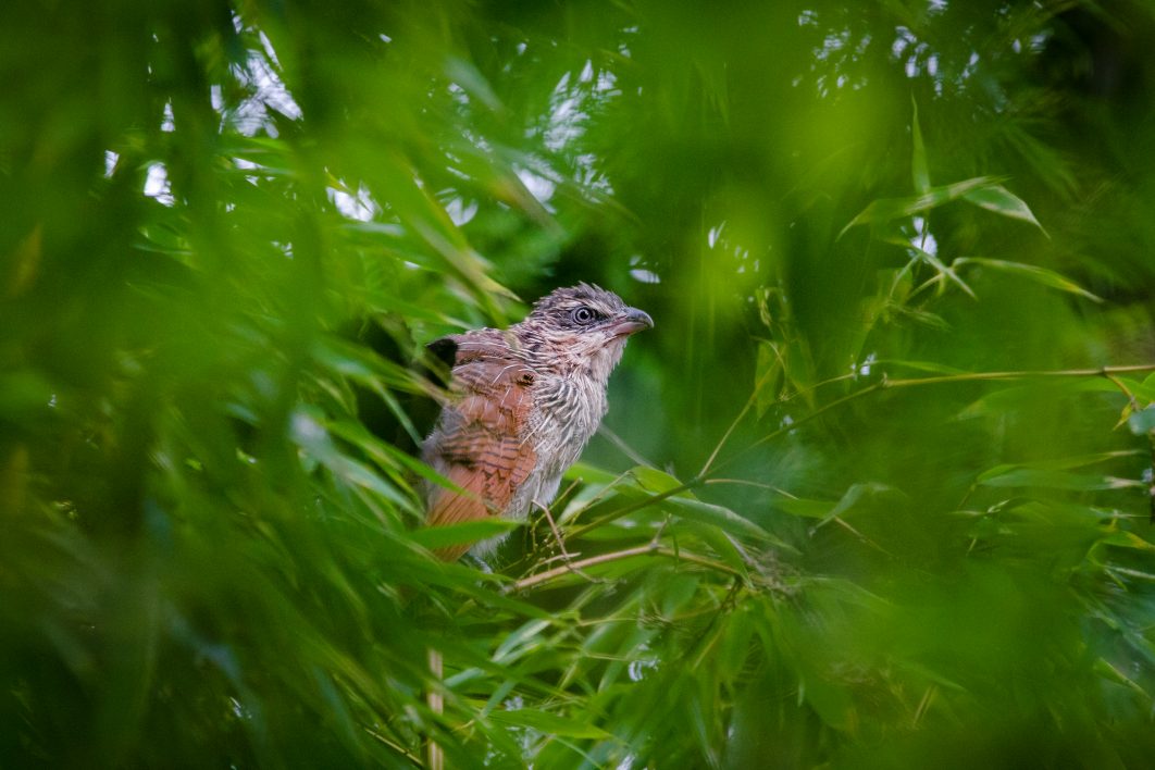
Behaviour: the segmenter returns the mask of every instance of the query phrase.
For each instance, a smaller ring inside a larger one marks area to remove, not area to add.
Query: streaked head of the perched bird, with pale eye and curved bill
[[[586,369],[602,381],[621,359],[626,339],[653,326],[654,320],[644,311],[627,306],[611,291],[584,283],[556,289],[537,300],[519,324],[530,332],[532,342],[544,344],[568,366]]]

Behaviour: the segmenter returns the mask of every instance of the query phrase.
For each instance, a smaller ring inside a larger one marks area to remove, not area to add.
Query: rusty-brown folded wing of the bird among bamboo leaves
[[[532,408],[532,369],[500,331],[486,329],[449,339],[456,344],[453,398],[425,443],[425,459],[463,493],[440,486],[431,489],[426,516],[431,526],[505,511],[536,461],[524,440]],[[468,550],[468,545],[454,546],[438,555],[453,560]]]

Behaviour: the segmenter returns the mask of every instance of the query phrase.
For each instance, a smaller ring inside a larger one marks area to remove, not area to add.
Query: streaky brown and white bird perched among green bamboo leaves
[[[556,289],[508,329],[475,329],[427,347],[452,366],[448,397],[422,457],[442,484],[426,485],[426,524],[545,508],[561,476],[608,410],[606,386],[632,335],[654,327],[644,311],[597,285]],[[434,553],[486,559],[501,538]]]

